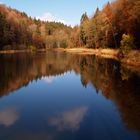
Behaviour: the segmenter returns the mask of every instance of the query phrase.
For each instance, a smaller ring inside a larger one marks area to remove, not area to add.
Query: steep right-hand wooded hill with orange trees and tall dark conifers
[[[91,18],[84,13],[77,33],[90,48],[140,48],[140,0],[108,2]]]

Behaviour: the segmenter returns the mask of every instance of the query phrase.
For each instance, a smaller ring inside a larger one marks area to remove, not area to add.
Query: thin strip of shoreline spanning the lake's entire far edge
[[[120,58],[119,49],[89,49],[89,48],[56,48],[56,49],[39,49],[32,50],[3,50],[0,54],[14,54],[14,53],[30,53],[30,52],[46,52],[48,50],[67,52],[80,55],[96,55],[98,57],[115,59],[124,65],[137,67],[140,71],[140,50],[131,50],[124,58]]]

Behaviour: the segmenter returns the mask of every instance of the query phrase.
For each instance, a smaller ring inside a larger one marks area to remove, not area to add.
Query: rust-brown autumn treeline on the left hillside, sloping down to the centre
[[[0,50],[63,47],[70,31],[63,23],[43,22],[0,5]]]

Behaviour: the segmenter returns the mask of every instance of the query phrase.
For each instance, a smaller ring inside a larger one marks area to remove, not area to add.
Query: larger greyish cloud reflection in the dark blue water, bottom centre
[[[79,107],[62,112],[59,115],[52,117],[49,120],[49,124],[55,126],[59,131],[78,130],[87,111],[87,107]]]

